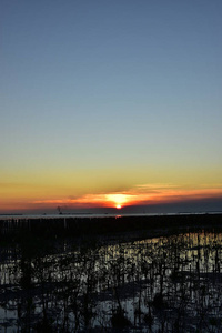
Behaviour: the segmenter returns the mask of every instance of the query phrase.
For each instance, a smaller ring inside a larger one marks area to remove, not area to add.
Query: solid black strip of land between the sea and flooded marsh
[[[56,215],[0,220],[0,235],[6,238],[27,231],[32,236],[161,236],[191,231],[212,230],[222,232],[222,213],[165,214],[165,215]]]

